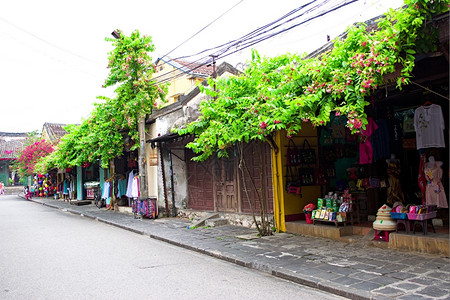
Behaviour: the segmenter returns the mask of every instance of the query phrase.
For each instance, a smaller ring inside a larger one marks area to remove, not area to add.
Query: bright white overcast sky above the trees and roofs
[[[0,1],[0,132],[41,131],[45,122],[79,124],[97,96],[112,97],[102,84],[111,44],[105,37],[138,29],[152,37],[154,61],[222,45],[312,0],[14,0]],[[316,12],[343,3],[326,2]],[[347,0],[350,2],[350,0]],[[359,0],[249,48],[233,47],[224,61],[236,66],[262,56],[309,53],[348,25],[398,8],[402,0]],[[287,26],[287,25],[286,25]],[[281,27],[280,27],[281,28]],[[175,49],[174,51],[172,51]],[[202,57],[210,52],[205,52]],[[187,60],[195,60],[191,57]]]

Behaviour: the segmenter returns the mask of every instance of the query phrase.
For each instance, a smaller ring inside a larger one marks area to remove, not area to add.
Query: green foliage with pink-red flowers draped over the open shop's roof
[[[196,136],[188,147],[200,161],[215,153],[227,156],[229,146],[265,140],[274,131],[284,129],[289,137],[302,122],[324,125],[333,112],[346,115],[347,127],[359,133],[367,124],[367,97],[397,66],[401,68],[397,87],[410,83],[415,54],[423,45],[434,45],[427,34],[431,29],[424,30],[425,21],[448,10],[448,0],[405,0],[405,4],[378,20],[378,30],[368,31],[365,24],[349,28],[345,39],[334,41],[332,50],[316,58],[296,54],[261,58],[253,51],[242,75],[209,79],[209,87],[200,86],[213,99],[201,104],[197,121],[176,132]]]

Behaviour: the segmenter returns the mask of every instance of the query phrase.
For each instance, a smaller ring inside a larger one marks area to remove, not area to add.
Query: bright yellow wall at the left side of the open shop
[[[308,139],[311,148],[316,152],[316,165],[310,165],[310,167],[318,167],[318,137],[317,129],[313,128],[310,123],[302,124],[302,130],[293,136],[295,145],[301,149],[303,147],[303,141]],[[286,132],[281,131],[276,135],[276,144],[279,147],[278,154],[273,154],[274,174],[273,182],[274,186],[274,209],[275,209],[275,222],[277,229],[280,231],[286,231],[285,218],[289,215],[296,215],[303,213],[303,207],[308,203],[316,203],[317,198],[321,196],[321,188],[319,185],[304,186],[302,187],[302,197],[296,194],[290,194],[286,192],[286,155],[288,149],[289,139],[286,138]]]

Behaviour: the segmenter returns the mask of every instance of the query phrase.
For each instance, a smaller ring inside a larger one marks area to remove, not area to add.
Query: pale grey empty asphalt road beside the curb
[[[1,299],[343,299],[0,196]]]

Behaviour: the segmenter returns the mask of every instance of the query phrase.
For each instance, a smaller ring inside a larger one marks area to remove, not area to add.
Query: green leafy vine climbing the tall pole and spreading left
[[[115,47],[109,52],[110,73],[104,87],[115,86],[115,97],[97,97],[88,119],[80,125],[71,125],[54,154],[43,168],[53,166],[67,168],[85,162],[100,160],[103,168],[109,161],[120,156],[124,149],[124,135],[139,140],[137,124],[140,118],[150,114],[157,98],[164,99],[166,86],[159,86],[152,79],[155,72],[149,52],[154,51],[151,37],[131,36],[120,33],[120,38],[106,38]],[[139,147],[134,143],[132,150]]]

